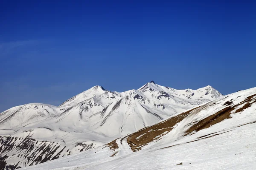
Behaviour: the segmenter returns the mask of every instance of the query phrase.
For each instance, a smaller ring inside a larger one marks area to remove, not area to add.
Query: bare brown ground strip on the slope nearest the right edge
[[[244,111],[244,109],[249,108],[254,102],[256,102],[256,99],[253,99],[254,96],[256,96],[256,94],[247,97],[246,99],[244,99],[243,102],[234,106],[231,106],[231,103],[233,102],[226,102],[224,105],[228,107],[222,109],[221,111],[218,111],[215,114],[212,114],[211,116],[208,116],[207,118],[202,119],[201,121],[190,127],[188,130],[186,130],[185,136],[194,131],[198,132],[199,130],[206,129],[212,125],[223,121],[224,119],[230,119],[232,111],[236,110],[236,108],[238,108],[240,105],[243,105],[243,107],[237,109],[234,113]]]

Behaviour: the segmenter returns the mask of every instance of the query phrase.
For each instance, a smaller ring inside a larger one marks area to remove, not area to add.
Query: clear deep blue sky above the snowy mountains
[[[255,87],[255,2],[1,0],[0,111],[94,85]]]

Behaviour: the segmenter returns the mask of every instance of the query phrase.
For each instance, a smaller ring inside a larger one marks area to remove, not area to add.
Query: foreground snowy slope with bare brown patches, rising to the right
[[[256,169],[256,88],[26,170]],[[182,163],[182,164],[181,164]]]

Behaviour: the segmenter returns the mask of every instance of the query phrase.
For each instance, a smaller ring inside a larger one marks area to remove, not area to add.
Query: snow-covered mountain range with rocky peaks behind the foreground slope
[[[0,113],[0,167],[26,167],[99,147],[221,96],[210,86],[176,90],[148,82],[121,93],[94,86],[58,107],[17,106]]]

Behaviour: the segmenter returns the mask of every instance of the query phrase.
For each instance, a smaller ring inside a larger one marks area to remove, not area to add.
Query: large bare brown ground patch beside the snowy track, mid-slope
[[[131,150],[136,152],[141,150],[141,147],[147,145],[149,142],[159,139],[165,133],[170,132],[173,126],[182,121],[186,116],[188,116],[193,110],[193,108],[184,113],[173,116],[166,121],[160,122],[156,125],[145,127],[127,137],[127,143],[130,145]]]

